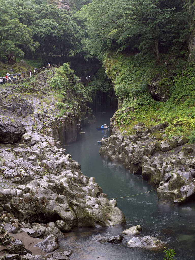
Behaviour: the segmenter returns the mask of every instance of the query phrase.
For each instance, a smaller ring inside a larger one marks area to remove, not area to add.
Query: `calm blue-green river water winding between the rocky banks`
[[[126,225],[113,228],[79,228],[66,233],[67,239],[61,242],[61,250],[72,249],[70,260],[156,260],[163,259],[163,250],[147,250],[128,248],[130,240],[125,236],[119,245],[97,242],[99,239],[119,235],[123,230],[141,225],[140,236],[152,235],[168,243],[167,248],[176,251],[177,260],[195,258],[195,203],[174,206],[158,200],[154,187],[132,174],[123,164],[109,161],[99,155],[100,146],[97,141],[109,131],[97,131],[106,123],[109,125],[113,113],[99,114],[96,124],[84,129],[86,138],[66,147],[72,159],[81,164],[84,175],[95,177],[108,198],[118,198],[117,206],[126,217]],[[147,193],[144,193],[147,192]],[[120,198],[144,193],[137,196]]]

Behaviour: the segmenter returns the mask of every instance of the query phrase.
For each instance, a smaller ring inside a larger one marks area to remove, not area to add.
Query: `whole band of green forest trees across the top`
[[[67,11],[44,0],[0,0],[0,59],[5,61],[14,51],[31,59],[97,56],[101,60],[105,51],[113,50],[153,55],[159,62],[161,54],[187,49],[190,1],[89,2],[70,1],[72,9]]]

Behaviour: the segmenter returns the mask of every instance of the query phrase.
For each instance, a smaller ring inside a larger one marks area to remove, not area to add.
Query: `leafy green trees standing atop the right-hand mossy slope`
[[[189,15],[181,0],[94,0],[87,9],[92,52],[109,49],[153,54],[181,49],[189,37]]]

